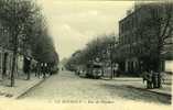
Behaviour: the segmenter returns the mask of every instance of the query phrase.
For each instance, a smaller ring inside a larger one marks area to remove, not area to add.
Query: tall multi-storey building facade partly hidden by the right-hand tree
[[[142,31],[145,31],[145,33],[148,34],[152,34],[154,33],[154,29],[152,28],[143,28],[143,30],[139,30],[142,29],[141,25],[143,25],[143,22],[149,22],[148,20],[150,20],[151,14],[150,14],[150,8],[152,6],[138,6],[134,7],[133,10],[128,11],[127,16],[125,19],[122,19],[121,21],[119,21],[119,45],[118,45],[118,50],[117,50],[117,56],[121,59],[120,64],[121,64],[121,68],[127,72],[127,73],[140,73],[142,72],[142,69],[144,67],[142,67],[142,61],[141,57],[142,55],[148,54],[148,50],[145,50],[143,46],[144,43],[147,44],[147,38],[149,36],[148,40],[153,41],[155,37],[154,36],[150,36],[150,35],[142,35],[140,33],[142,33]],[[163,10],[158,10],[160,11],[159,13],[162,14]],[[172,40],[167,40],[171,41]],[[154,43],[153,43],[154,45]],[[164,47],[165,48],[165,47]],[[149,50],[152,50],[149,47]],[[163,56],[165,56],[162,61],[162,70],[165,68],[164,66],[166,65],[165,61],[167,57],[167,53],[169,53],[169,61],[172,61],[172,53],[173,50],[167,48],[166,53],[164,53]]]

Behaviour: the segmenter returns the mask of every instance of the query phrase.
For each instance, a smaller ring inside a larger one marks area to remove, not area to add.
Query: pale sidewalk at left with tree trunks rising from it
[[[18,99],[43,80],[43,78],[37,78],[34,75],[31,76],[30,80],[17,78],[14,87],[2,85],[2,81],[0,81],[0,98]],[[7,82],[9,84],[10,80],[7,80]]]

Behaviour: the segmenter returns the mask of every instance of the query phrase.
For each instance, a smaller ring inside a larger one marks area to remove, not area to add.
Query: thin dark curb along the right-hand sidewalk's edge
[[[154,90],[151,90],[151,89],[144,89],[144,88],[133,87],[133,86],[129,86],[129,85],[125,85],[125,86],[130,87],[130,88],[140,89],[140,90],[145,90],[145,91],[153,92],[153,94],[159,94],[159,95],[162,95],[162,96],[165,96],[165,97],[172,97],[171,94],[159,92],[159,91],[154,91]]]

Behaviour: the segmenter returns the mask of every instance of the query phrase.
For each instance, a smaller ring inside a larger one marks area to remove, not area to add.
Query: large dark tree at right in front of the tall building
[[[143,7],[147,7],[149,18],[138,28],[138,35],[142,37],[140,46],[144,52],[140,57],[145,68],[159,73],[159,87],[161,87],[161,61],[164,59],[163,53],[169,51],[165,46],[173,44],[173,3],[144,4]]]

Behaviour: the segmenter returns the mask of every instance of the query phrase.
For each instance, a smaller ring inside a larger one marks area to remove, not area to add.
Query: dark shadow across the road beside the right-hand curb
[[[123,99],[171,105],[171,96],[159,95],[156,92],[141,90],[141,89],[133,88],[131,86],[125,86],[125,85],[102,84],[100,86],[109,90],[111,96],[118,96]]]

